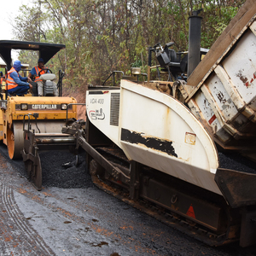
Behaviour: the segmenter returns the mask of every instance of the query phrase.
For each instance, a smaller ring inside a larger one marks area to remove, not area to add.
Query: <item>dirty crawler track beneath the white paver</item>
[[[107,158],[113,166],[126,166],[126,175],[129,176],[129,161],[126,159],[124,154],[121,154],[122,152],[118,148],[96,148],[98,152],[100,152],[105,158]],[[229,159],[223,155],[223,160],[228,161]],[[211,229],[208,229],[207,226],[202,225],[196,221],[193,221],[193,219],[187,218],[187,215],[179,214],[179,210],[173,210],[171,207],[165,207],[162,205],[160,202],[157,200],[154,200],[154,198],[147,197],[145,196],[144,192],[141,195],[139,195],[138,200],[134,201],[131,200],[131,195],[129,192],[129,185],[115,181],[112,177],[106,176],[106,173],[104,174],[104,171],[102,168],[96,167],[97,165],[93,164],[92,160],[90,162],[90,171],[91,169],[97,169],[98,171],[96,172],[90,172],[93,183],[96,184],[96,186],[105,192],[107,192],[110,195],[115,196],[116,198],[119,198],[121,201],[125,201],[132,207],[135,207],[139,209],[142,212],[147,213],[149,216],[152,216],[158,220],[160,220],[162,223],[167,224],[168,226],[171,226],[172,228],[175,228],[176,230],[179,230],[183,232],[184,234],[194,237],[195,239],[199,241],[203,241],[209,246],[221,246],[230,242],[238,241],[236,236],[233,236],[232,234],[232,229],[237,229],[237,223],[236,220],[233,220],[234,216],[236,218],[236,214],[238,212],[230,212],[230,208],[225,206],[225,203],[222,201],[218,201],[218,198],[209,198],[209,201],[207,201],[207,204],[211,204],[210,199],[212,200],[212,204],[216,204],[219,208],[223,209],[226,216],[229,218],[226,220],[225,225],[227,225],[226,230],[223,231],[218,231],[214,232]],[[95,163],[95,162],[94,162]],[[127,167],[128,165],[128,167]],[[247,171],[247,166],[241,165],[238,167],[242,167],[243,171]],[[249,170],[250,171],[250,170]],[[152,178],[153,176],[156,178],[155,181],[157,183],[157,180],[162,175],[160,172],[157,174],[156,170],[151,170],[150,168],[148,169],[146,166],[141,166],[141,177],[139,178],[141,186],[144,186],[144,177],[150,177]],[[166,176],[163,176],[164,178]],[[161,177],[161,178],[163,178]],[[174,181],[175,184],[177,181]],[[168,182],[166,181],[166,184]],[[131,185],[131,184],[130,184]],[[189,184],[186,185],[186,183],[180,183],[179,187],[186,187]],[[143,188],[141,188],[143,190]],[[140,189],[140,190],[141,190]],[[152,189],[152,188],[151,188]],[[191,188],[190,188],[191,189]],[[189,189],[186,189],[187,192],[189,193]],[[167,191],[166,191],[167,193]],[[178,192],[177,192],[178,193]],[[198,190],[197,194],[203,193],[203,191]],[[196,195],[196,194],[195,194]],[[210,194],[209,194],[210,195]],[[209,196],[208,195],[208,196]],[[192,194],[191,194],[192,196]],[[212,195],[211,195],[212,196]],[[195,197],[196,198],[196,197]],[[199,197],[201,200],[206,200],[204,197]],[[208,198],[208,197],[207,197]],[[234,215],[235,214],[235,215]],[[238,213],[239,214],[239,213]]]

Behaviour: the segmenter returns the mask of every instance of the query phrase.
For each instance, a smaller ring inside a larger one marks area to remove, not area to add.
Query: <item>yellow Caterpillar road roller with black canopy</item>
[[[38,51],[38,56],[47,63],[59,50],[64,48],[64,44],[0,41],[0,55],[8,70],[11,68],[12,49]],[[33,88],[32,94],[29,93],[26,96],[11,96],[7,90],[2,89],[0,95],[0,140],[7,145],[10,159],[21,158],[20,152],[24,142],[23,130],[26,128],[24,120],[29,118],[29,128],[46,135],[61,133],[61,128],[67,118],[77,118],[75,105],[70,105],[68,116],[66,116],[67,105],[76,103],[76,100],[73,97],[61,96],[63,75],[64,73],[60,71],[57,83],[59,96],[50,93],[50,85],[47,88],[48,94],[40,97],[35,93],[37,87]],[[52,73],[44,73],[40,79],[47,82],[45,83],[47,85],[52,84],[52,80],[56,79],[56,76]],[[34,83],[34,86],[37,84]]]

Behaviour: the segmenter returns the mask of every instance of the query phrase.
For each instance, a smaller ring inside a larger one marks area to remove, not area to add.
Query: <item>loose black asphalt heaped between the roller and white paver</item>
[[[67,151],[43,152],[39,156],[44,187],[78,189],[93,186],[90,174],[86,172],[84,152],[79,154],[77,166],[75,155]]]

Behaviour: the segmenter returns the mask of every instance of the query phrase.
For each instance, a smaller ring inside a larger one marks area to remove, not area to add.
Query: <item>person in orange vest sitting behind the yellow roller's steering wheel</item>
[[[43,90],[44,83],[42,80],[39,79],[39,73],[41,70],[43,71],[40,73],[40,75],[44,73],[49,73],[49,70],[45,70],[45,69],[47,69],[47,67],[44,67],[44,60],[42,58],[39,58],[38,66],[33,67],[32,70],[28,73],[29,78],[32,78],[32,76],[35,77],[35,82],[38,84],[38,96],[44,96],[44,90]],[[54,94],[55,96],[59,96],[57,85],[55,84],[55,82],[53,82],[53,84],[54,84]]]

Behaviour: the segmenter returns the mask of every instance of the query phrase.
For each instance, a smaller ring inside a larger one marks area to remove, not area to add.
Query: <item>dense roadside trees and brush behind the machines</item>
[[[210,48],[245,0],[37,0],[15,18],[15,39],[66,44],[48,67],[68,87],[102,84],[113,70],[146,72],[148,46],[188,50],[189,15],[202,9],[201,47]],[[34,66],[38,56],[20,51]]]

